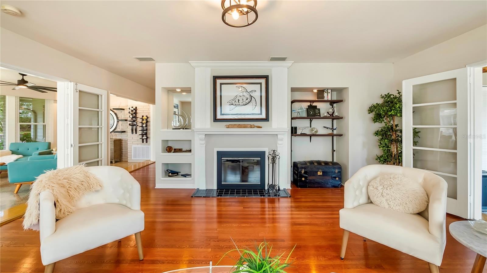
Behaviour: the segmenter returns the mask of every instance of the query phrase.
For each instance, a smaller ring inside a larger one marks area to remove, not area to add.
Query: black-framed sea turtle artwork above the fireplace
[[[269,121],[269,76],[213,76],[213,121]]]

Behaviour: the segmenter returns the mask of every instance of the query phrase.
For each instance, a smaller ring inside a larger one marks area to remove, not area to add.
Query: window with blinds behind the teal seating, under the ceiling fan
[[[47,130],[47,100],[18,97],[18,142],[44,142],[51,139]]]

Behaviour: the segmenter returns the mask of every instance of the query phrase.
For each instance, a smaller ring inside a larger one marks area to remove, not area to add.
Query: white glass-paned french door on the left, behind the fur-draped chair
[[[107,165],[107,95],[98,88],[70,83],[72,165]]]

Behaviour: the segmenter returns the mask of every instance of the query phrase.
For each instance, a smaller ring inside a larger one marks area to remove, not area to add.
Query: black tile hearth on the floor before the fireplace
[[[286,189],[279,191],[280,196],[271,196],[265,190],[252,190],[252,189],[196,189],[191,197],[247,197],[247,198],[287,198],[291,197],[291,194]]]

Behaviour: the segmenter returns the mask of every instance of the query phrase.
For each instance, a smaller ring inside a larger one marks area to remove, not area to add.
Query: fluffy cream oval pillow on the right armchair
[[[415,214],[428,206],[423,187],[401,174],[381,175],[369,183],[367,191],[375,205],[398,212]]]

